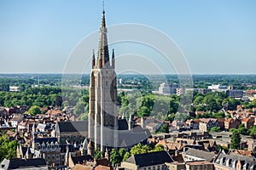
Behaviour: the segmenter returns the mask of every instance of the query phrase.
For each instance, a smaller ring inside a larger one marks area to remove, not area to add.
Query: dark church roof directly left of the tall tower
[[[57,122],[57,133],[73,133],[73,132],[87,132],[87,121],[74,121],[74,122]]]

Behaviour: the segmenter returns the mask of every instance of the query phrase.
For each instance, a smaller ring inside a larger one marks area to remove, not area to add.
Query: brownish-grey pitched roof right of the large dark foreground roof
[[[187,150],[185,151],[186,155],[189,156],[195,156],[201,159],[204,159],[206,161],[212,162],[213,159],[215,158],[215,154],[207,151],[202,151],[202,150],[195,150],[194,148],[186,148]]]

